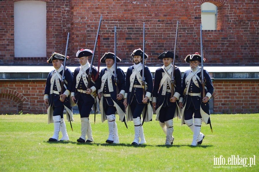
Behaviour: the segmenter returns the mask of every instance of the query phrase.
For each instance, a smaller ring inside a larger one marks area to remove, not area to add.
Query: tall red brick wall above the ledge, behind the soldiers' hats
[[[15,0],[18,1],[18,0]],[[94,48],[100,15],[101,54],[114,50],[113,28],[117,26],[117,56],[121,64],[131,64],[130,54],[142,47],[145,22],[147,64],[155,65],[157,56],[174,50],[176,22],[178,28],[178,64],[188,54],[200,51],[201,4],[218,7],[217,30],[203,31],[203,53],[207,65],[259,65],[258,1],[256,0],[189,0],[189,1],[49,1],[47,2],[47,57],[15,58],[14,1],[0,1],[0,64],[43,64],[54,51],[65,53],[70,32],[68,56],[71,65],[81,48]],[[95,61],[96,62],[96,61]]]

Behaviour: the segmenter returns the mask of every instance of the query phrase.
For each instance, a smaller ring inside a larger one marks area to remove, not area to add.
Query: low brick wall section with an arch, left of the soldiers
[[[46,81],[0,82],[0,114],[47,113],[43,96]]]

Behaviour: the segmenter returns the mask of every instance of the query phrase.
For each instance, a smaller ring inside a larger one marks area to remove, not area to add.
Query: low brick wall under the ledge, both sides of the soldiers
[[[258,113],[259,81],[213,81],[218,93],[213,101],[217,113]],[[0,114],[47,114],[43,96],[45,81],[0,82]]]

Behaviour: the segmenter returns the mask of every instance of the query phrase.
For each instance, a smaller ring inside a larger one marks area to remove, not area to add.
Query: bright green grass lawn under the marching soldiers
[[[134,124],[128,129],[117,117],[120,144],[106,144],[107,121],[90,115],[94,143],[78,143],[80,115],[75,114],[69,141],[48,142],[54,126],[47,115],[0,115],[0,171],[259,171],[259,114],[212,114],[212,128],[203,123],[203,143],[192,142],[191,130],[174,119],[174,145],[165,146],[165,134],[158,121],[144,123],[146,144],[133,146]],[[61,134],[60,137],[61,138]],[[215,160],[225,165],[214,165]],[[226,165],[239,156],[239,164]],[[247,158],[247,159],[246,159]],[[246,160],[246,162],[245,162]],[[255,165],[254,165],[255,164]],[[234,167],[234,168],[233,168]]]

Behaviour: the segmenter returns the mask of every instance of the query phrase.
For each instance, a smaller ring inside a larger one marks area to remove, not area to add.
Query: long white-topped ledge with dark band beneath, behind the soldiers
[[[72,72],[75,71],[77,66],[67,66]],[[119,66],[120,67],[120,66]],[[178,66],[182,74],[184,71],[190,69],[189,66]],[[100,67],[100,70],[104,66]],[[125,73],[128,66],[120,67]],[[157,66],[149,67],[153,78]],[[53,70],[53,66],[0,66],[0,81],[2,80],[31,80],[37,81],[47,78],[49,72]],[[211,78],[214,80],[259,80],[259,66],[204,66],[204,69],[210,73]]]

